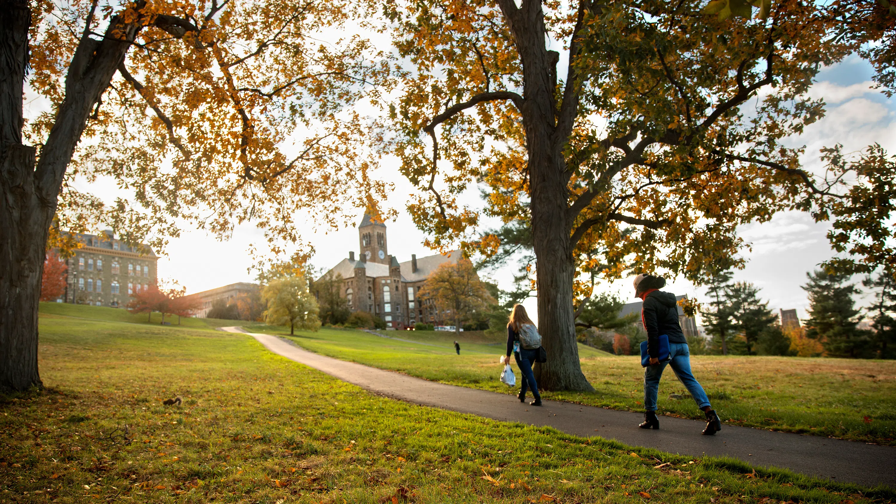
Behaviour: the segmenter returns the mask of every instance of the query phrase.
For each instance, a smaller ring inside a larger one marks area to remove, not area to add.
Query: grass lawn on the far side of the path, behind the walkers
[[[288,334],[283,328],[255,331]],[[461,340],[453,333],[382,331],[420,345],[349,329],[297,332],[299,346],[323,355],[475,389],[516,394],[498,380],[504,343]],[[462,333],[461,333],[462,334]],[[593,393],[545,392],[548,399],[642,411],[643,371],[636,356],[609,355],[579,346],[582,372]],[[694,376],[726,423],[896,445],[896,361],[774,356],[692,356]],[[515,369],[515,366],[514,366]],[[667,368],[659,387],[659,413],[702,418],[687,390]]]

